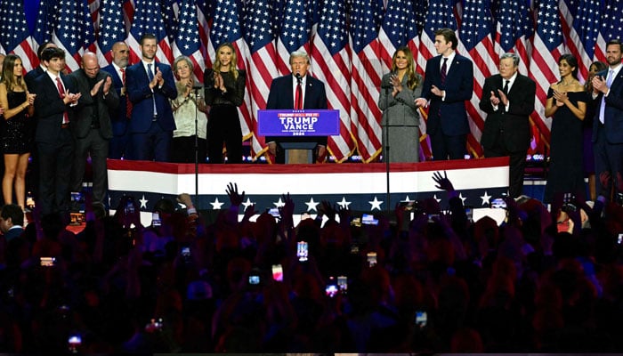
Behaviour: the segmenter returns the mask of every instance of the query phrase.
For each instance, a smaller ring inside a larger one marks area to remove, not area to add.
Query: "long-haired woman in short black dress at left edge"
[[[3,61],[0,82],[0,106],[4,109],[2,150],[4,153],[4,177],[2,191],[4,204],[13,203],[13,187],[17,204],[26,206],[26,168],[32,145],[27,120],[35,113],[35,94],[28,93],[22,77],[21,59],[7,54]]]

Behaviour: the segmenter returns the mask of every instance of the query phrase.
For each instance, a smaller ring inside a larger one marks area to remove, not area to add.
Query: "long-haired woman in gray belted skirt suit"
[[[393,53],[392,72],[383,76],[378,107],[383,110],[383,159],[417,162],[420,116],[415,103],[422,93],[422,77],[415,71],[413,53],[401,47]]]

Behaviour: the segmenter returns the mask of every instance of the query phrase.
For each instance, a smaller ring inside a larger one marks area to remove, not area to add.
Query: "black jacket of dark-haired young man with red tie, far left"
[[[66,93],[77,93],[73,79],[64,74],[60,74],[61,80],[65,85]],[[53,143],[57,141],[61,133],[63,113],[69,114],[69,125],[74,125],[74,110],[65,104],[56,83],[47,74],[36,77],[30,93],[36,93],[35,115],[36,115],[36,142]]]

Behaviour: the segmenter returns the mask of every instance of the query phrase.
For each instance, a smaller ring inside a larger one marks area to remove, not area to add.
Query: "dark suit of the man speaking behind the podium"
[[[303,98],[303,109],[327,109],[327,92],[325,84],[307,73]],[[271,92],[268,94],[266,109],[294,109],[295,100],[292,92],[294,76],[289,74],[284,77],[272,79]],[[288,142],[310,142],[310,137],[288,137]],[[320,145],[327,146],[327,137],[314,137]],[[279,138],[266,136],[266,142],[279,142]],[[283,163],[285,157],[283,150],[278,151],[277,163]]]

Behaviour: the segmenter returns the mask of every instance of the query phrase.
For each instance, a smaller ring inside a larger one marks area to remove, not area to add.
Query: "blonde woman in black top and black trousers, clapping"
[[[206,105],[211,105],[207,119],[208,163],[223,163],[223,142],[227,163],[242,163],[242,129],[238,107],[245,98],[246,74],[237,69],[238,57],[231,44],[216,49],[213,69],[204,73]]]

